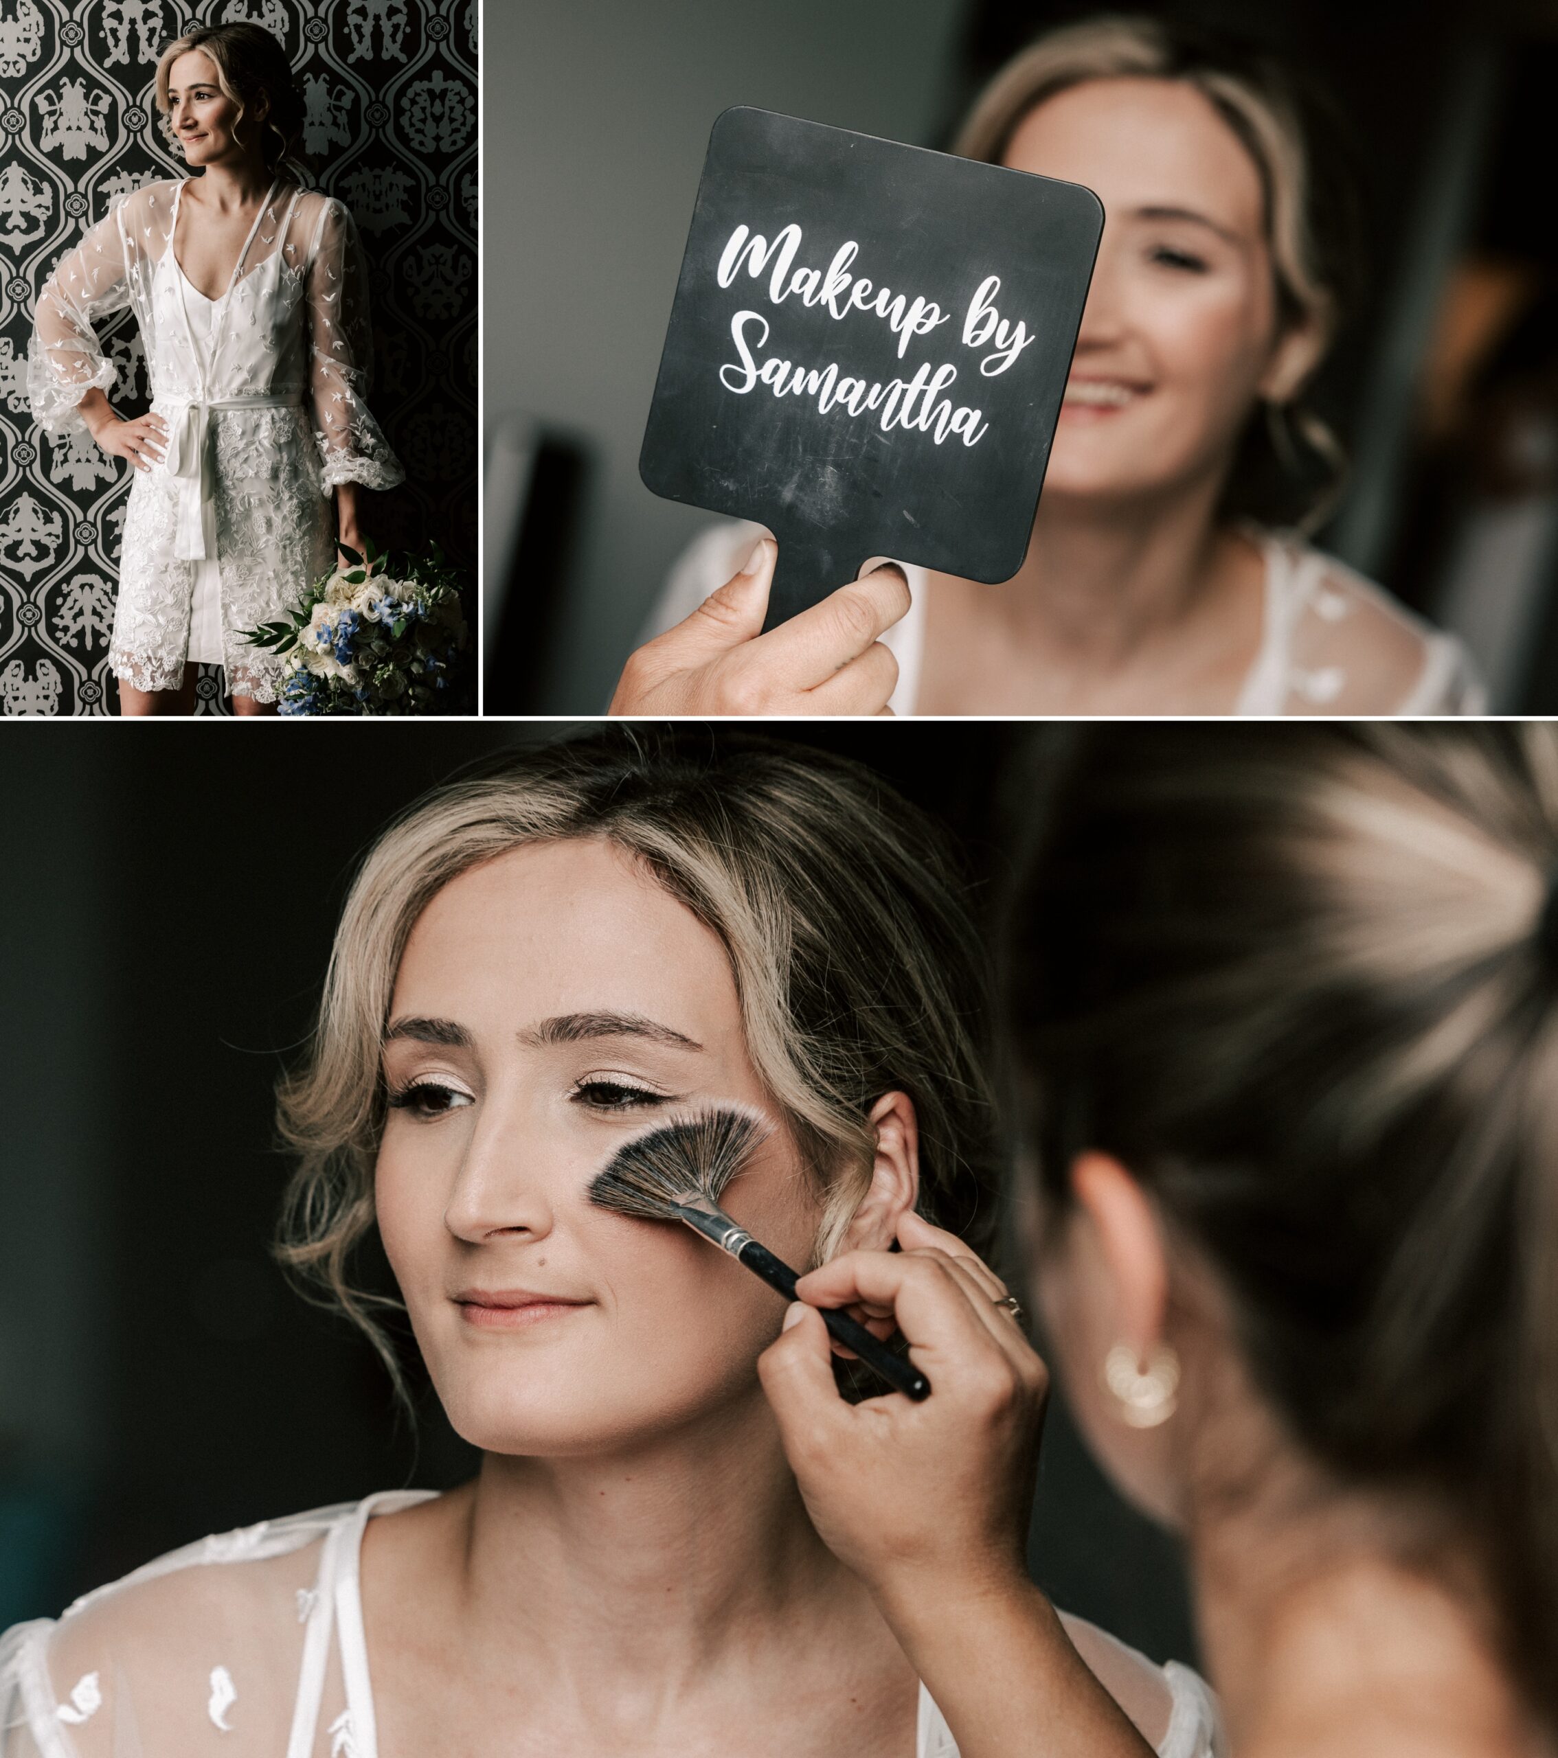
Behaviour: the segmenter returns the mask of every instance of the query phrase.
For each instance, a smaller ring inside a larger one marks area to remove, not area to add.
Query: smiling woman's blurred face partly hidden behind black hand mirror
[[[1094,79],[1004,155],[1104,204],[1045,496],[1176,490],[1222,473],[1257,396],[1291,396],[1310,336],[1277,336],[1261,176],[1194,86]]]

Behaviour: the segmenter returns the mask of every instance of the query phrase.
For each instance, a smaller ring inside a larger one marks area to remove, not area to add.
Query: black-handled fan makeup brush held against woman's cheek
[[[681,1220],[784,1299],[795,1299],[797,1275],[721,1210],[724,1187],[768,1134],[756,1116],[733,1108],[705,1111],[649,1130],[617,1150],[589,1187],[591,1202],[642,1220]],[[823,1324],[848,1348],[909,1398],[925,1398],[930,1380],[848,1313],[819,1308]]]

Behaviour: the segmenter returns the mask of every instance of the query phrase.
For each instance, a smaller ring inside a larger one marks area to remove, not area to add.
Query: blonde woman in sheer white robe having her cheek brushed
[[[885,1245],[916,1210],[983,1239],[981,965],[937,832],[818,752],[596,735],[410,810],[283,1093],[287,1255],[383,1343],[350,1278],[376,1229],[480,1471],[21,1626],[0,1758],[955,1758],[784,1463],[756,1371],[783,1303],[586,1190],[644,1129],[737,1102],[777,1127],[730,1210],[775,1252]],[[934,1396],[967,1419],[967,1389]],[[1029,1466],[1036,1431],[1029,1408]],[[1143,1754],[1113,1698],[1208,1758],[1194,1674],[1076,1621],[1048,1638],[1052,1758]]]

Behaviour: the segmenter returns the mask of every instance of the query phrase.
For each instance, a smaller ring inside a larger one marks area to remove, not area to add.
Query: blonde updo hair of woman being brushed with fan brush
[[[986,1252],[997,1157],[988,983],[950,839],[877,775],[749,733],[608,730],[482,765],[392,823],[346,898],[306,1064],[280,1093],[299,1155],[283,1262],[359,1324],[399,1385],[353,1246],[375,1222],[380,1048],[417,918],[512,849],[605,839],[724,944],[753,1067],[825,1194],[818,1262],[870,1183],[867,1113],[914,1101],[920,1211]]]

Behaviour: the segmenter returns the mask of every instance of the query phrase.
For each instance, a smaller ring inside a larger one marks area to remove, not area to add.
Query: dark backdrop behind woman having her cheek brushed
[[[396,1417],[369,1347],[267,1255],[276,1074],[308,1032],[355,860],[457,765],[564,728],[267,735],[14,728],[0,830],[0,1630],[174,1545],[475,1456]],[[1002,867],[990,726],[807,726]],[[719,733],[712,733],[719,737]],[[290,749],[290,747],[288,747]],[[1032,1556],[1057,1602],[1194,1661],[1175,1544],[1052,1408]]]

